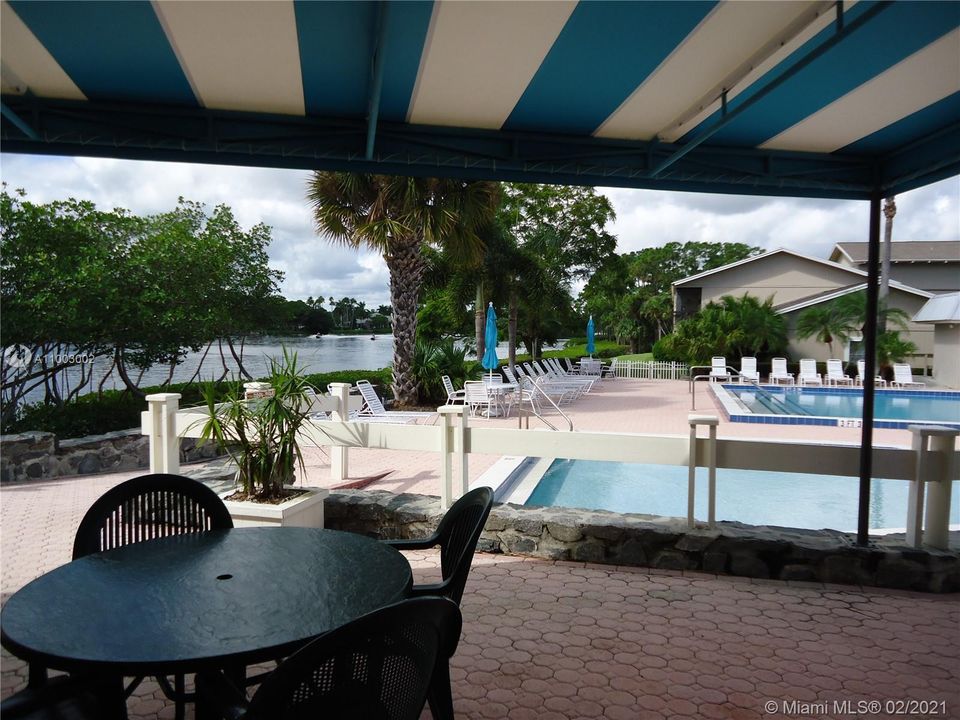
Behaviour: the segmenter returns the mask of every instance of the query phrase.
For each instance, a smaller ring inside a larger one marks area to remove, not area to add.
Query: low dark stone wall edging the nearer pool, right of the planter
[[[326,527],[383,538],[423,537],[436,529],[439,501],[426,495],[339,490],[327,498]],[[696,570],[755,578],[960,592],[960,533],[951,551],[915,550],[903,535],[859,547],[855,536],[718,523],[687,530],[686,521],[564,508],[495,505],[478,550]]]

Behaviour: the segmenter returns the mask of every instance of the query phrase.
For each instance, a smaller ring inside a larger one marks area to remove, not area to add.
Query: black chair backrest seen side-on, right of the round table
[[[458,605],[470,574],[473,553],[493,507],[493,490],[480,487],[457,500],[437,526],[440,570],[447,582],[444,595]]]

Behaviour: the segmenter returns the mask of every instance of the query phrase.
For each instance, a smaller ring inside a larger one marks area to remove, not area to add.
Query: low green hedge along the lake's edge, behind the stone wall
[[[354,383],[357,380],[369,380],[381,386],[389,386],[391,371],[383,370],[338,370],[329,373],[315,373],[307,376],[307,381],[315,388],[326,392],[332,382]],[[217,386],[218,395],[223,396],[236,383],[224,382]],[[171,383],[144,388],[151,393],[176,392],[181,407],[201,405],[203,395],[201,386],[192,383]],[[75,402],[59,407],[46,403],[34,403],[23,407],[19,417],[4,426],[4,433],[20,433],[29,430],[52,432],[59,438],[75,438],[85,435],[102,435],[114,430],[126,430],[140,426],[140,413],[147,409],[143,400],[138,400],[124,390],[104,390],[102,397],[95,393],[83,395]]]

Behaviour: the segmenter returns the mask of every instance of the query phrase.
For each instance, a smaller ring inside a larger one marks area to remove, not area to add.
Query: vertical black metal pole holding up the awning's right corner
[[[867,252],[867,307],[863,326],[864,378],[863,421],[860,434],[860,499],[857,512],[857,544],[867,545],[870,535],[870,479],[873,474],[873,407],[877,376],[877,310],[880,305],[880,200],[870,198],[870,231]]]

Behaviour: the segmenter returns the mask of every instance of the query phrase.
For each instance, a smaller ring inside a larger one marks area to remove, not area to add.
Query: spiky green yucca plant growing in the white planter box
[[[297,435],[309,415],[312,391],[296,353],[286,348],[281,361],[270,360],[267,382],[273,397],[245,400],[242,388],[235,387],[220,403],[208,384],[207,419],[200,434],[201,443],[217,443],[237,463],[238,484],[248,498],[261,501],[282,497],[297,467],[304,467]]]

